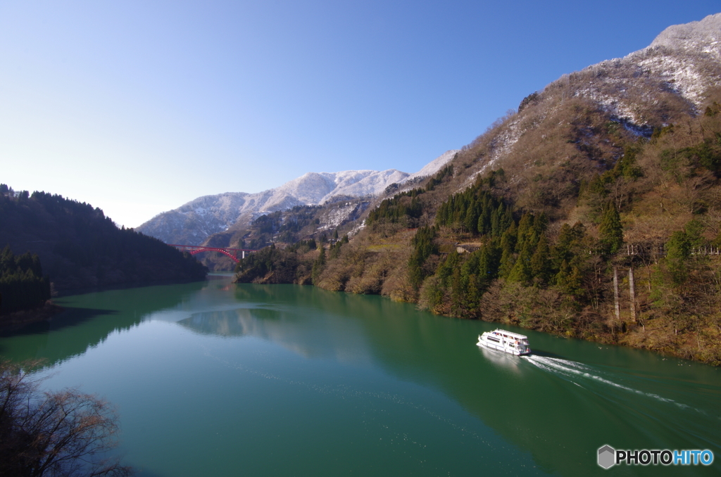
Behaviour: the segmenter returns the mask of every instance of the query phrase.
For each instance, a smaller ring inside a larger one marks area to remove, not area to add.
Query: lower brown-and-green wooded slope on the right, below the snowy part
[[[381,202],[353,240],[266,249],[238,278],[381,293],[447,316],[720,364],[720,111],[711,102],[684,127],[626,143],[615,164],[562,184],[571,204],[529,208],[533,191],[513,191],[503,169],[441,202],[449,166]]]

